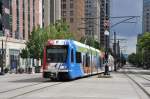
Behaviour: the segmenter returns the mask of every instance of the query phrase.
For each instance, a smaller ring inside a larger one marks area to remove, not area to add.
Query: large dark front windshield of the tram
[[[47,62],[48,63],[65,63],[67,60],[67,46],[52,45],[47,46]]]

